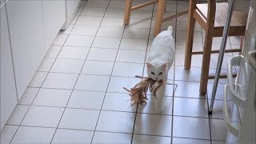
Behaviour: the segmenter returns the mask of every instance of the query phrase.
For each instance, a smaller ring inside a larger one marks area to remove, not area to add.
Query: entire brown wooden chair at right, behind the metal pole
[[[197,0],[190,0],[188,25],[186,31],[186,54],[185,69],[189,70],[191,65],[192,54],[202,54],[202,72],[200,81],[200,94],[207,92],[207,82],[209,78],[210,54],[218,54],[219,50],[211,50],[214,37],[222,37],[222,32],[226,22],[226,14],[228,10],[227,2],[217,2],[216,0],[207,0],[207,3],[198,4]],[[205,31],[205,41],[203,51],[192,52],[194,24],[195,21],[202,26]],[[230,22],[229,36],[242,36],[246,30],[246,14],[234,11]],[[226,50],[225,52],[239,52],[239,49]],[[225,76],[221,75],[221,78]]]

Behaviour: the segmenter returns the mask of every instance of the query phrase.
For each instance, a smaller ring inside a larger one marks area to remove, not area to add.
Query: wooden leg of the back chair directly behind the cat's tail
[[[166,6],[166,0],[158,1],[158,10],[157,10],[157,16],[156,16],[155,25],[154,25],[154,37],[157,36],[161,31],[162,17],[165,10],[165,6]]]

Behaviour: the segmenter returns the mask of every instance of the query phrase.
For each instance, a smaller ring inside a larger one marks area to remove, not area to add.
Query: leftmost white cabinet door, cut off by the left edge
[[[16,95],[16,87],[14,82],[14,69],[10,52],[10,38],[6,19],[6,6],[0,7],[0,31],[1,31],[1,96],[0,96],[0,131],[5,126],[10,114],[18,103]]]

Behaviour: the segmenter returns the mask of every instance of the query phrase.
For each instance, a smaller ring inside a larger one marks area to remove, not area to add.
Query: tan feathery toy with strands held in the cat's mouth
[[[149,77],[140,77],[135,76],[136,78],[142,78],[142,81],[136,84],[133,88],[130,90],[123,87],[124,90],[127,90],[129,92],[129,95],[131,97],[131,106],[134,106],[134,104],[139,103],[142,106],[146,104],[146,100],[148,98],[146,97],[146,92],[150,88],[150,92],[154,94],[154,97],[156,95],[156,91],[160,86],[162,86],[162,81],[154,81],[153,79]]]

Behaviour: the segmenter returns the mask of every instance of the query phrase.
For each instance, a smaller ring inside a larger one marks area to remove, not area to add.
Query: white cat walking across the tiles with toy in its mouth
[[[154,38],[151,45],[151,50],[146,61],[147,74],[155,81],[163,81],[163,85],[156,93],[156,111],[162,111],[162,97],[166,90],[166,80],[170,66],[174,62],[174,38],[172,37],[173,27],[169,26],[167,30],[162,31]]]

